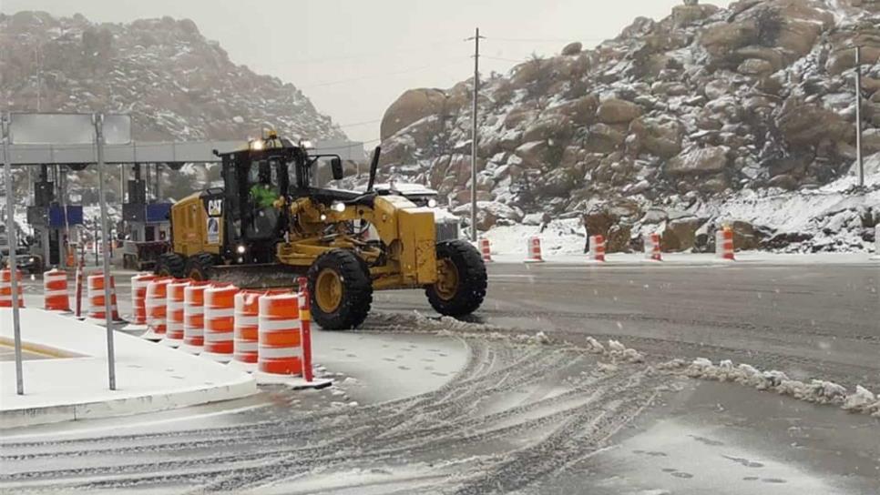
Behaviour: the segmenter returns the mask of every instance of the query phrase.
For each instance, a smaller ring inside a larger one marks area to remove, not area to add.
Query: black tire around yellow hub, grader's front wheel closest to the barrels
[[[322,308],[319,304],[318,278],[325,272],[335,274],[341,283],[342,296],[335,308]],[[347,330],[363,323],[373,304],[373,282],[366,265],[353,252],[345,249],[327,251],[312,263],[308,278],[312,319],[321,328]]]

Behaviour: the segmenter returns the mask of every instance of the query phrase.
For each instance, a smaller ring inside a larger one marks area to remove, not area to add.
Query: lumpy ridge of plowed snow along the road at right
[[[730,359],[721,360],[717,365],[710,359],[697,358],[686,362],[683,359],[672,359],[661,363],[658,369],[680,369],[684,374],[695,379],[711,379],[715,381],[731,381],[759,390],[772,390],[794,399],[805,400],[816,404],[833,404],[852,412],[861,412],[880,418],[880,400],[875,394],[862,386],[856,386],[849,393],[842,385],[823,379],[812,379],[809,383],[789,379],[776,369],[762,371],[748,364],[734,366]]]

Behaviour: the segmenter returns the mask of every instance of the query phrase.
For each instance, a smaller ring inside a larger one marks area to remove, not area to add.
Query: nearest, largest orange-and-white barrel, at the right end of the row
[[[259,305],[257,369],[270,375],[302,375],[299,296],[263,296]]]

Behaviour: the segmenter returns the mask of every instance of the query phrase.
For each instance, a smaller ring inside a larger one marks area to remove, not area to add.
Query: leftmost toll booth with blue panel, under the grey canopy
[[[27,223],[33,228],[28,239],[30,256],[22,260],[22,268],[40,273],[46,267],[71,266],[83,225],[83,207],[63,205],[65,177],[61,167],[52,167],[55,180],[49,180],[49,166],[41,166],[39,180],[34,183],[34,205],[27,207]]]

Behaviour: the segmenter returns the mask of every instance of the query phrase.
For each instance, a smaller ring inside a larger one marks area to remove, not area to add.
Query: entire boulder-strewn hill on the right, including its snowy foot
[[[821,195],[851,169],[856,44],[871,156],[880,153],[878,0],[742,0],[726,9],[686,0],[594,49],[573,43],[493,75],[478,101],[477,227],[583,216],[611,250],[638,248],[645,230],[660,230],[674,250],[740,220],[734,228],[757,248],[868,249],[876,193],[835,189],[852,200],[791,212],[799,222],[725,207]],[[384,173],[429,184],[465,213],[472,85],[409,90],[382,123]],[[818,235],[831,227],[847,240]]]

